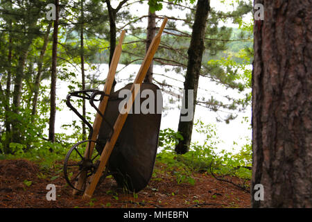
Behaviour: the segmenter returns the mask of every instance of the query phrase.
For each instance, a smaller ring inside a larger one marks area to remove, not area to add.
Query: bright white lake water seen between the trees
[[[124,65],[119,65],[119,67],[117,67],[117,85],[115,90],[120,89],[127,83],[132,83],[135,76],[137,75],[137,71],[139,71],[140,65],[128,65],[127,67],[123,67]],[[167,84],[183,88],[184,78],[182,75],[176,74],[175,71],[170,71],[168,68],[169,67],[166,66],[155,65],[153,68],[155,80],[159,83],[163,83],[165,80]],[[81,79],[80,71],[74,69],[73,67],[67,67],[67,69],[77,74],[77,80]],[[96,65],[96,69],[94,70],[88,69],[88,67],[86,67],[86,69],[86,74],[99,75],[97,78],[98,80],[104,80],[108,72],[108,66],[104,64]],[[166,75],[169,78],[162,75]],[[49,84],[49,81],[46,83]],[[155,84],[157,85],[157,83]],[[56,112],[55,133],[70,133],[70,130],[64,130],[61,126],[63,124],[71,124],[73,120],[79,120],[76,114],[69,110],[67,105],[62,101],[62,99],[66,99],[66,96],[70,91],[67,87],[68,85],[68,82],[61,80],[58,80],[57,82],[57,106],[62,108],[62,110]],[[103,90],[103,85],[100,85],[98,89]],[[172,89],[171,91],[173,94],[180,94],[182,96],[182,92],[179,92],[177,89]],[[164,110],[162,113],[161,129],[172,128],[173,130],[177,130],[182,101],[177,101],[175,96],[171,96],[165,92],[162,94],[164,98]],[[211,82],[209,78],[200,77],[198,98],[205,97],[209,99],[211,96],[214,96],[215,99],[220,99],[220,101],[226,103],[227,99],[223,97],[225,95],[238,96],[237,98],[242,97],[242,95],[238,94],[233,89],[225,89],[225,87],[222,85],[216,85],[216,83]],[[222,141],[220,144],[218,144],[218,151],[221,151],[222,149],[232,151],[232,148],[234,148],[234,152],[236,152],[239,151],[243,144],[248,143],[247,139],[251,139],[251,108],[248,107],[246,110],[246,112],[240,112],[236,119],[229,121],[227,124],[224,121],[216,121],[216,117],[225,116],[225,114],[227,114],[226,112],[214,112],[197,105],[194,119],[195,121],[200,119],[205,124],[213,123],[216,125],[217,135],[220,138],[220,141]],[[89,103],[87,103],[87,111],[92,111],[92,113],[95,113],[94,108],[92,108]],[[248,121],[244,121],[244,117],[247,117]],[[92,119],[94,119],[94,117],[92,117]],[[199,144],[202,144],[204,139],[205,135],[197,133],[196,130],[193,130],[192,142],[198,142]],[[233,142],[236,142],[237,144],[233,145]]]

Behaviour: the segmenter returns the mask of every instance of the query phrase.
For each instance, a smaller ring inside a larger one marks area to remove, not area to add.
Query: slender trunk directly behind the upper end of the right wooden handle
[[[146,35],[146,52],[150,47],[150,43],[155,36],[155,29],[156,29],[156,14],[155,12],[150,12],[150,7],[148,8],[148,27],[147,27],[147,35]],[[150,63],[150,67],[146,73],[144,78],[144,83],[153,83],[153,61]]]

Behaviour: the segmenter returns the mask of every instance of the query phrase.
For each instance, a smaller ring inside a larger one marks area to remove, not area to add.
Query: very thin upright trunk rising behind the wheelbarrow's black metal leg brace
[[[81,6],[81,27],[80,27],[80,62],[81,62],[81,76],[82,76],[82,84],[83,90],[85,89],[85,55],[83,50],[83,21],[85,20],[83,13],[83,0],[80,0]],[[83,99],[83,117],[85,118],[85,99]],[[83,122],[83,140],[86,139],[86,128],[85,123]]]

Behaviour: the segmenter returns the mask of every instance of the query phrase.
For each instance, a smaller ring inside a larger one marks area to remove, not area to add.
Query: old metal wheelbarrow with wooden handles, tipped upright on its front
[[[83,199],[91,198],[98,182],[102,182],[109,175],[114,177],[119,186],[129,191],[140,191],[148,185],[157,153],[162,94],[159,93],[157,85],[142,82],[157,51],[167,21],[165,18],[151,42],[134,83],[111,92],[125,35],[123,31],[114,51],[104,90],[86,89],[67,95],[67,106],[89,128],[88,138],[72,146],[64,160],[64,178],[73,188],[73,194],[81,191],[84,192]],[[123,90],[128,90],[130,96],[121,96]],[[152,110],[149,109],[152,112],[135,109],[146,103],[146,95],[142,95],[144,90],[155,95],[148,98],[155,104]],[[93,126],[73,107],[73,97],[87,99],[96,110]],[[99,102],[98,107],[94,103],[96,101]]]

